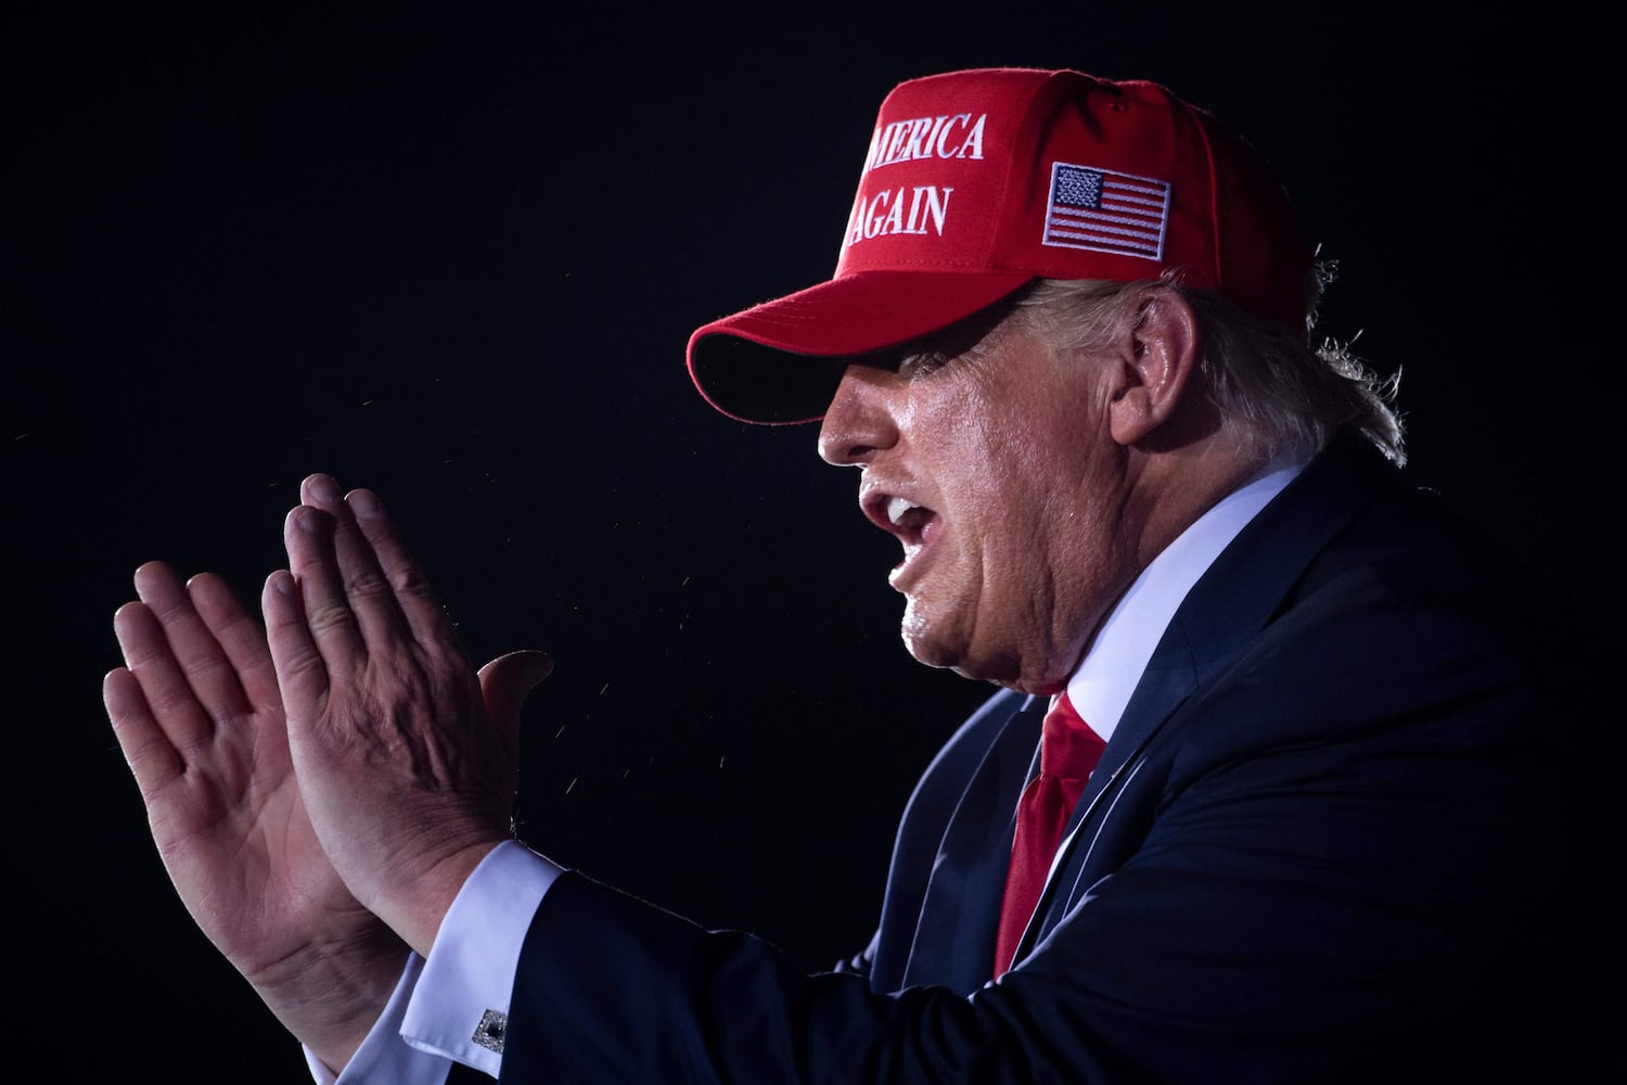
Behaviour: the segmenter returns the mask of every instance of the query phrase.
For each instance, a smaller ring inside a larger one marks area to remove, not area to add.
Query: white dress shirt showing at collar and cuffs
[[[1181,532],[1129,586],[1067,682],[1085,722],[1111,739],[1186,592],[1300,472],[1267,468]],[[1066,849],[1064,849],[1066,851]],[[337,1078],[311,1052],[319,1085],[444,1085],[456,1059],[496,1077],[521,947],[560,867],[504,841],[475,867],[441,921],[430,958],[413,955],[384,1013]],[[485,1039],[477,1039],[477,1035]]]

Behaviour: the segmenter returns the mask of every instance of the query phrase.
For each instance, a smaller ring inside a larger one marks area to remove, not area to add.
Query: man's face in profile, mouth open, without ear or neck
[[[820,455],[862,468],[864,514],[903,543],[890,582],[909,652],[1054,691],[1134,579],[1116,366],[1056,350],[1020,316],[968,338],[896,369],[848,366]]]

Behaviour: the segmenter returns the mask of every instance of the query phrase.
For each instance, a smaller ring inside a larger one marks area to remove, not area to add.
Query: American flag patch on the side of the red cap
[[[1162,260],[1168,223],[1168,181],[1051,164],[1045,244]]]

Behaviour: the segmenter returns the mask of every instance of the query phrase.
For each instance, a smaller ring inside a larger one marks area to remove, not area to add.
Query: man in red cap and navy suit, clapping
[[[841,252],[701,327],[690,371],[731,416],[822,420],[903,545],[909,651],[1001,691],[831,973],[511,839],[548,660],[477,675],[369,491],[306,480],[264,639],[216,579],[137,573],[109,716],[182,900],[314,1075],[1601,1072],[1552,971],[1616,952],[1578,895],[1583,646],[1308,345],[1316,268],[1258,155],[1149,83],[913,80]]]

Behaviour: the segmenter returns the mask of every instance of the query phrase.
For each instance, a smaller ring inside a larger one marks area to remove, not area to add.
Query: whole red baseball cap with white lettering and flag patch
[[[1305,329],[1310,268],[1261,156],[1168,89],[949,72],[882,102],[836,273],[696,329],[690,377],[731,418],[815,421],[841,374],[830,359],[931,335],[1035,278],[1175,272]]]

